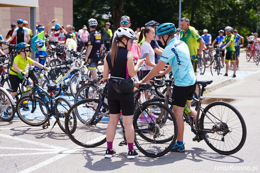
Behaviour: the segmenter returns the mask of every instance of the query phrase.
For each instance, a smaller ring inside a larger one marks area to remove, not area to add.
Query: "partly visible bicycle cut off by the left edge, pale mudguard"
[[[9,62],[0,64],[0,68],[4,68],[4,65],[8,64]],[[0,83],[2,80],[2,75],[0,76]],[[6,107],[9,102],[9,106]],[[4,121],[11,121],[14,118],[15,115],[15,109],[14,109],[14,99],[10,95],[10,93],[3,88],[2,84],[0,86],[0,119]]]

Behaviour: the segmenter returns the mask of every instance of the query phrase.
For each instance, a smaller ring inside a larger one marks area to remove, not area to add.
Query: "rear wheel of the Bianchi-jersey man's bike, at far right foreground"
[[[213,132],[219,127],[213,134],[202,133],[208,146],[219,154],[237,153],[246,141],[246,124],[240,112],[227,102],[217,101],[206,106],[204,113],[207,116],[202,113],[200,118],[202,130]]]

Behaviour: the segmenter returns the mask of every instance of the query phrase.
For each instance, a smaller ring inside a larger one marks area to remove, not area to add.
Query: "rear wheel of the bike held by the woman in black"
[[[147,103],[136,110],[133,118],[134,143],[141,153],[149,157],[161,157],[168,153],[177,139],[177,120],[168,106]],[[147,121],[143,121],[143,116]],[[171,117],[172,121],[168,119]],[[160,118],[159,118],[160,117]]]

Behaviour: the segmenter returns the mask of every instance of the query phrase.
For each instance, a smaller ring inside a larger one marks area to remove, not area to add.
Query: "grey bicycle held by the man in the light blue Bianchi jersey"
[[[200,142],[201,137],[205,140],[207,145],[215,152],[230,155],[237,153],[246,141],[246,124],[240,112],[227,102],[216,101],[212,102],[203,109],[201,107],[203,100],[203,91],[212,80],[196,81],[202,86],[199,99],[189,97],[198,103],[199,109],[197,111],[196,120],[193,122],[193,117],[189,115],[190,110],[185,107],[183,111],[183,120],[190,125],[191,131],[196,134],[197,141]],[[165,80],[161,86],[164,86]],[[158,95],[162,95],[157,91]],[[166,96],[169,95],[167,90]],[[152,99],[149,102],[157,102]],[[165,98],[160,102],[168,105],[169,98]],[[201,115],[200,115],[201,112]]]

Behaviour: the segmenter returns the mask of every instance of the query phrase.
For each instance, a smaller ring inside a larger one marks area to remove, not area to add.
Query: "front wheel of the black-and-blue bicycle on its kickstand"
[[[31,126],[41,126],[48,120],[48,109],[38,96],[22,96],[16,104],[16,113],[20,120]],[[44,106],[43,106],[44,105]],[[43,112],[44,114],[43,114]]]

